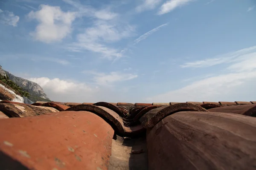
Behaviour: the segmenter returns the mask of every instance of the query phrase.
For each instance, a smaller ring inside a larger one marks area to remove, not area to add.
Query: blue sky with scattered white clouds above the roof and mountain
[[[60,102],[255,101],[254,0],[3,0],[0,65]]]

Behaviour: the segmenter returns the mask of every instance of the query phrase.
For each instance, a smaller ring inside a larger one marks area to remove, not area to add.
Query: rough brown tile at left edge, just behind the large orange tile
[[[58,112],[55,108],[11,103],[0,103],[0,111],[9,117],[29,117]]]

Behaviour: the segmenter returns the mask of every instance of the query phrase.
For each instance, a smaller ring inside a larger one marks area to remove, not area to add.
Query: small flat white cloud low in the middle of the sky
[[[100,73],[96,71],[83,71],[84,74],[93,75],[93,81],[98,85],[113,85],[114,82],[122,82],[137,78],[137,74],[127,74],[121,72],[111,72],[109,74]]]

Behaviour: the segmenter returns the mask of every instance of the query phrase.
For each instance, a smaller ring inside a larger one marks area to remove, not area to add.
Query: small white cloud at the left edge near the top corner
[[[0,9],[0,23],[16,27],[19,20],[20,17],[15,15],[13,12],[3,11]]]

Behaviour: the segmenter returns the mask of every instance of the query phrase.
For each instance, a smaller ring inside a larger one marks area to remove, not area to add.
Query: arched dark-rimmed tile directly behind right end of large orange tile
[[[114,111],[103,106],[95,105],[76,105],[71,108],[68,108],[66,111],[90,111],[96,113],[105,119],[115,131],[124,134],[124,124],[122,118]]]

